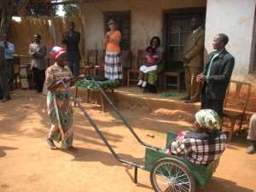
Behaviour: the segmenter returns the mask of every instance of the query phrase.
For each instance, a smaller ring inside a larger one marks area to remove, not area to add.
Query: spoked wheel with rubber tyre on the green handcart
[[[154,191],[194,192],[195,177],[182,161],[164,158],[158,160],[150,172],[151,185]]]

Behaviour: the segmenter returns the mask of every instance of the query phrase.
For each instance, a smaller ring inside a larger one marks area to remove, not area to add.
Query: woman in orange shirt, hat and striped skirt
[[[105,56],[105,78],[123,79],[123,67],[121,63],[120,41],[121,32],[116,29],[116,23],[113,20],[108,21],[110,31],[106,33],[104,43],[107,46]]]

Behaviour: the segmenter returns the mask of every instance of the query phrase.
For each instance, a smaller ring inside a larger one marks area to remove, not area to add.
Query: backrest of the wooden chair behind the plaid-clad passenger
[[[236,85],[236,89],[235,91],[232,91],[234,90],[234,85]],[[233,108],[236,110],[238,109],[238,110],[241,110],[243,113],[245,113],[247,108],[248,98],[250,95],[250,90],[251,90],[250,83],[230,80],[230,84],[226,91],[226,96],[224,100],[224,108]],[[237,107],[240,107],[240,108],[237,108]]]

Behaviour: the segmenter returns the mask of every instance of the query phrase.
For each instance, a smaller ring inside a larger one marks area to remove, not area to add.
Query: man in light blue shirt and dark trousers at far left
[[[14,90],[15,63],[13,54],[15,53],[15,45],[8,42],[7,34],[3,34],[2,42],[0,42],[0,44],[4,47],[4,58],[8,70],[9,90]]]

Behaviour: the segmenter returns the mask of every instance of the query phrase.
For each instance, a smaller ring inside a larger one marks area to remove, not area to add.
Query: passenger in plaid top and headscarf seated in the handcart
[[[227,137],[221,129],[221,119],[212,109],[195,113],[195,132],[179,134],[168,144],[170,152],[195,164],[207,165],[223,154]]]

